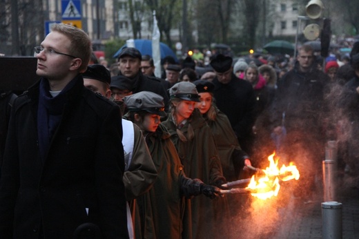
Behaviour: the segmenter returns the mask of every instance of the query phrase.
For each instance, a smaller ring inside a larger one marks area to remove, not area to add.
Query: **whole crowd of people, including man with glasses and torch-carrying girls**
[[[1,95],[0,238],[222,238],[239,203],[226,182],[275,151],[311,202],[329,140],[359,189],[359,42],[347,63],[308,45],[287,61],[195,51],[162,59],[160,77],[136,48],[111,69],[91,51],[54,24],[35,48],[39,81]]]

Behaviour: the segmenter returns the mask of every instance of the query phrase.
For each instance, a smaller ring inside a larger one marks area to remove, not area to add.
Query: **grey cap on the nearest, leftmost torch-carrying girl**
[[[123,101],[128,111],[147,111],[148,113],[166,116],[164,98],[151,91],[140,91],[139,93],[125,96]]]

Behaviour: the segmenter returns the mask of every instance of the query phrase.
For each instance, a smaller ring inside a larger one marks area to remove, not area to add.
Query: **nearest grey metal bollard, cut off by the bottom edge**
[[[322,202],[322,238],[342,238],[342,204]]]

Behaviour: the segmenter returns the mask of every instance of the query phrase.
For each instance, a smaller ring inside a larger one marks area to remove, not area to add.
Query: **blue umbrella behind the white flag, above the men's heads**
[[[135,39],[135,48],[141,52],[142,55],[150,55],[152,57],[152,41],[148,39]],[[124,44],[115,55],[113,55],[113,58],[117,58],[119,55],[119,52],[122,51],[123,48],[127,47],[127,44]],[[169,48],[166,44],[160,42],[159,43],[159,50],[161,50],[161,59],[164,59],[164,57],[167,57],[168,55],[173,57],[175,61],[178,62],[177,56],[173,52],[171,48]]]

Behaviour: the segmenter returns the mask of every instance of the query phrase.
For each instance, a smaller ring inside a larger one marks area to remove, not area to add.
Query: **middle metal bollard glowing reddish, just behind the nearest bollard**
[[[336,162],[333,160],[323,161],[323,186],[324,202],[336,200]]]

